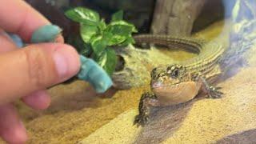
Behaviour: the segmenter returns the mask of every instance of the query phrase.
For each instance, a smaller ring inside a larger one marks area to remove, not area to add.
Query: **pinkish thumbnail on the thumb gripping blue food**
[[[78,53],[70,46],[63,46],[54,52],[54,62],[60,78],[70,78],[79,70]]]

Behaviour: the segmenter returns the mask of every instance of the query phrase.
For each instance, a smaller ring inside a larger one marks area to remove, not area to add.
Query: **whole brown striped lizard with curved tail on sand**
[[[190,38],[172,38],[166,35],[138,35],[136,44],[152,43],[169,48],[182,48],[198,53],[198,56],[170,66],[158,66],[151,71],[151,92],[142,94],[139,114],[134,124],[145,125],[151,106],[170,106],[193,99],[200,91],[209,98],[220,98],[220,87],[214,87],[214,79],[221,74],[219,60],[224,49],[214,42],[202,42]]]

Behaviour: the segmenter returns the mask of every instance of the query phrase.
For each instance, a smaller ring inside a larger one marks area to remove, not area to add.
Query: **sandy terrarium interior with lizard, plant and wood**
[[[256,142],[254,0],[26,2],[99,67],[16,104],[29,143]]]

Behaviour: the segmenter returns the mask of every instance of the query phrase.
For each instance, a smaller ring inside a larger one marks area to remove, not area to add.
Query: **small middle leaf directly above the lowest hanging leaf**
[[[91,46],[96,55],[100,55],[107,46],[107,39],[102,35],[98,35],[92,38]]]

